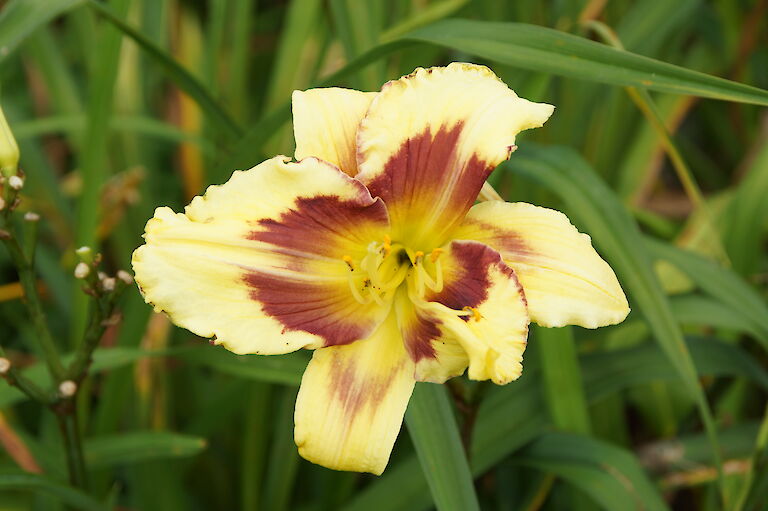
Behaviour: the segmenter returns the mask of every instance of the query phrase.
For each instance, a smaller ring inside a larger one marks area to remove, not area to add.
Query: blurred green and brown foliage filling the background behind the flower
[[[461,439],[473,486],[424,449],[422,469],[423,424],[381,477],[300,459],[309,353],[237,357],[131,286],[76,397],[87,488],[70,489],[55,415],[0,382],[0,510],[766,509],[766,20],[765,0],[0,0],[0,105],[62,354],[88,321],[77,247],[130,269],[154,208],[292,154],[294,89],[375,91],[452,61],[557,106],[491,182],[590,233],[633,309],[532,327],[505,387],[439,387],[435,435]],[[45,387],[22,295],[0,249],[0,345]]]

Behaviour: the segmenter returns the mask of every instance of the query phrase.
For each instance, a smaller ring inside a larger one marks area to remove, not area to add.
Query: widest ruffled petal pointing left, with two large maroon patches
[[[388,228],[386,208],[335,167],[277,157],[235,172],[186,212],[158,208],[133,254],[156,311],[236,353],[367,337],[386,310],[349,291],[345,255]]]

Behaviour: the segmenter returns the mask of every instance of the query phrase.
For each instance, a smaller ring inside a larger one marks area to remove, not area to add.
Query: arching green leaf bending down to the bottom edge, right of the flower
[[[562,477],[604,509],[669,509],[635,456],[594,438],[544,433],[513,462]]]

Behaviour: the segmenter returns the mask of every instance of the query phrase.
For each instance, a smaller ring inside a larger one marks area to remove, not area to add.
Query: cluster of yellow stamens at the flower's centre
[[[393,243],[385,236],[381,242],[368,244],[367,253],[359,261],[348,255],[342,259],[349,268],[352,296],[362,304],[386,305],[406,280],[412,300],[423,300],[427,289],[439,293],[443,289],[442,252],[443,249],[436,248],[425,256],[421,250]]]

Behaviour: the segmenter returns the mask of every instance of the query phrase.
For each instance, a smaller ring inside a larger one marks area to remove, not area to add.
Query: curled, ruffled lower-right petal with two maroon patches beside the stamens
[[[441,289],[424,300],[411,291],[410,307],[396,302],[416,379],[442,383],[467,364],[474,380],[503,385],[519,377],[528,312],[514,271],[498,252],[473,241],[452,242],[440,262]]]

